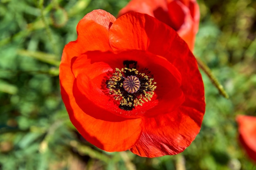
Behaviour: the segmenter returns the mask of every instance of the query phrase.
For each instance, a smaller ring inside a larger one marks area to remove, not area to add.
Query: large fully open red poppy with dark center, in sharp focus
[[[70,120],[95,146],[143,157],[182,152],[200,130],[204,87],[177,33],[141,13],[94,10],[63,50],[60,84]]]

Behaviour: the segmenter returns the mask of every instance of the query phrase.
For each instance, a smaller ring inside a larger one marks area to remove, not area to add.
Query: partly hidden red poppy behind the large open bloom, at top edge
[[[130,11],[146,13],[171,26],[193,51],[200,19],[196,0],[131,0],[119,16]]]

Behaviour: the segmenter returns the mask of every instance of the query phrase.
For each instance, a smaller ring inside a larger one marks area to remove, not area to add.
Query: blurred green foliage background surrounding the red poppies
[[[194,53],[229,94],[201,71],[206,113],[182,154],[142,158],[104,152],[70,123],[58,64],[76,25],[93,9],[113,15],[128,0],[0,0],[0,170],[256,170],[240,148],[235,117],[256,116],[256,0],[198,0]]]

